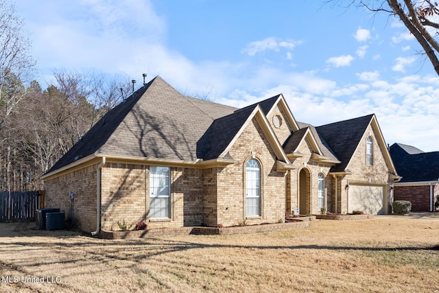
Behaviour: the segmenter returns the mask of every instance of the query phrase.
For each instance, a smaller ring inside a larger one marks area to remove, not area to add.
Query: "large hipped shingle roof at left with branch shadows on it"
[[[235,110],[185,97],[156,77],[106,113],[47,173],[91,154],[195,161],[214,119]]]

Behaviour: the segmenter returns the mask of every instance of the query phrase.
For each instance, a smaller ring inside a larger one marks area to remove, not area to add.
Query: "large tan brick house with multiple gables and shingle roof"
[[[84,231],[233,226],[285,214],[388,213],[398,180],[375,115],[313,127],[283,95],[233,108],[156,77],[110,110],[43,176],[46,207]]]

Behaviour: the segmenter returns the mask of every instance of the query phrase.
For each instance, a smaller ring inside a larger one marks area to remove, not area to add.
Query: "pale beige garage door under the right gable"
[[[348,213],[352,211],[364,211],[372,215],[386,213],[383,190],[382,185],[351,185],[348,191]]]

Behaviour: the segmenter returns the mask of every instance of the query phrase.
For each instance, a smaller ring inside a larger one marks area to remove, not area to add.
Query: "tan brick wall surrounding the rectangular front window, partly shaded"
[[[145,220],[150,228],[202,225],[203,170],[171,167],[171,218],[150,219],[149,166],[107,163],[102,169],[102,229],[118,230],[117,222]]]

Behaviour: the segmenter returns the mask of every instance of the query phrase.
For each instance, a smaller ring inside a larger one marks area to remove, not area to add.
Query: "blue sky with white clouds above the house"
[[[52,71],[161,75],[246,106],[283,93],[315,126],[375,113],[387,143],[439,150],[439,77],[398,19],[321,0],[20,0],[43,88]]]

